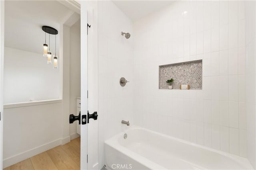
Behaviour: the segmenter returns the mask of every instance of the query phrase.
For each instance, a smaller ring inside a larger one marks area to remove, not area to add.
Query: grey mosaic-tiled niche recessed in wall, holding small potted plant
[[[159,89],[168,89],[167,80],[173,78],[173,89],[189,84],[190,89],[202,90],[202,60],[159,66]]]

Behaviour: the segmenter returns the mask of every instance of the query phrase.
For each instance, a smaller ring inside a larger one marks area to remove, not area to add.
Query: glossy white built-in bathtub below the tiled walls
[[[124,134],[127,138],[124,139]],[[104,144],[108,169],[253,169],[246,158],[131,126]]]

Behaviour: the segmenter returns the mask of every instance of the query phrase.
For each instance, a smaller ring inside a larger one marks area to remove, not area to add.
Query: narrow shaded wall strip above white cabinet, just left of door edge
[[[70,27],[70,114],[76,115],[76,97],[80,97],[80,20]],[[70,135],[76,133],[76,123],[70,124]]]

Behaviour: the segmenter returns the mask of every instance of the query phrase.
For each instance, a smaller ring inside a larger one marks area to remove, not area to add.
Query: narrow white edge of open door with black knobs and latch
[[[88,55],[87,55],[87,6],[86,1],[80,1],[80,14],[81,14],[81,122],[82,115],[87,115],[88,110]],[[87,121],[87,120],[86,120]],[[88,124],[82,125],[81,123],[81,170],[87,170],[87,129]]]

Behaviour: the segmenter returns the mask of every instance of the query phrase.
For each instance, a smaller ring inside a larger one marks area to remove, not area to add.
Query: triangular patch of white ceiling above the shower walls
[[[168,6],[171,0],[113,0],[132,21],[136,21],[152,12]]]

